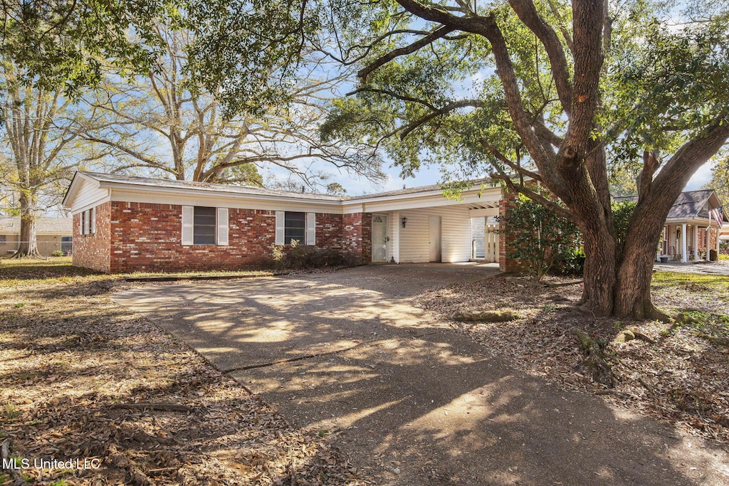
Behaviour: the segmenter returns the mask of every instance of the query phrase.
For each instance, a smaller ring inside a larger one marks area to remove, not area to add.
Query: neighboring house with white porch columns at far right
[[[637,196],[614,199],[637,200]],[[682,192],[668,211],[658,253],[680,262],[708,259],[706,248],[719,253],[721,235],[728,232],[728,223],[714,189]]]

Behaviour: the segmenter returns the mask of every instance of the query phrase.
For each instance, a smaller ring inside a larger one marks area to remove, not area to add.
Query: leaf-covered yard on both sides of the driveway
[[[330,431],[292,427],[259,397],[140,315],[109,300],[122,276],[55,262],[0,264],[0,452],[98,459],[0,472],[0,485],[367,485]],[[602,396],[690,434],[729,444],[729,279],[657,273],[656,303],[680,324],[588,318],[580,286],[543,288],[504,275],[426,291],[413,302],[494,356],[562,388]],[[514,321],[453,316],[499,310]],[[575,327],[601,343],[612,387],[594,383]],[[628,329],[642,339],[615,342]]]

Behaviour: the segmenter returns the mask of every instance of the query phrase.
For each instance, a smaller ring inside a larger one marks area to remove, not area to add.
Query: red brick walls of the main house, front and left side
[[[276,239],[276,212],[228,210],[227,246],[182,246],[182,206],[112,202],[97,208],[95,235],[81,235],[74,216],[74,264],[111,273],[245,270],[267,267]],[[316,214],[316,246],[371,259],[369,213]]]

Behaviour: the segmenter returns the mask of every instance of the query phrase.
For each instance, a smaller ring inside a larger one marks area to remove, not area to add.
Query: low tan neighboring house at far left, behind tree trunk
[[[36,218],[38,251],[50,255],[54,251],[71,254],[73,219]],[[0,254],[14,254],[20,245],[20,216],[0,216]]]

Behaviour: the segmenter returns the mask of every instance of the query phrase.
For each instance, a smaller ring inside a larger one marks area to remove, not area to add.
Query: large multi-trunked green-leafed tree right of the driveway
[[[582,230],[585,311],[660,314],[650,281],[663,222],[729,137],[726,12],[696,2],[690,23],[670,25],[641,1],[328,5],[338,36],[321,48],[360,66],[356,98],[340,102],[328,130],[376,138],[405,167],[488,162]],[[623,251],[609,193],[618,163],[639,173]]]

